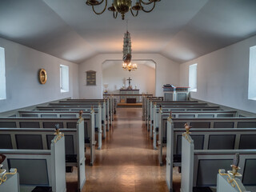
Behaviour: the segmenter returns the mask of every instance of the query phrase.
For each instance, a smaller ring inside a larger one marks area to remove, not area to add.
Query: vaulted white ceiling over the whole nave
[[[108,10],[96,15],[85,2],[1,0],[0,37],[77,63],[122,53],[126,21]],[[162,54],[176,62],[253,36],[255,18],[255,0],[162,0],[149,14],[126,14],[132,53]]]

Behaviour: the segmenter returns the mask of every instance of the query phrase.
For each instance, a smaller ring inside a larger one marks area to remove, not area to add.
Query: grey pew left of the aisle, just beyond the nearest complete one
[[[78,167],[79,190],[82,190],[86,181],[84,120],[79,119],[76,129],[63,129],[65,134],[66,167]],[[0,128],[0,149],[14,150],[50,150],[54,139],[54,129],[41,128]],[[94,150],[90,149],[90,165],[94,163]]]

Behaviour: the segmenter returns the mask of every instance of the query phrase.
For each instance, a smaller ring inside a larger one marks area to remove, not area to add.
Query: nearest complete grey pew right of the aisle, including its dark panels
[[[194,150],[193,139],[183,134],[181,191],[208,191],[210,186],[217,186],[218,170],[230,170],[237,153],[240,154],[241,170],[238,172],[242,174],[243,185],[255,190],[256,150]]]

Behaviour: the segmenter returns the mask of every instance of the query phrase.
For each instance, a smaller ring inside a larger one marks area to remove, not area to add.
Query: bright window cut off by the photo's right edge
[[[256,100],[256,46],[250,47],[248,98]]]

